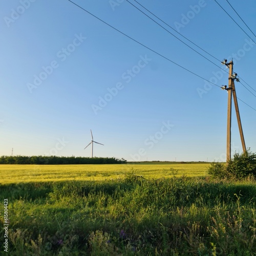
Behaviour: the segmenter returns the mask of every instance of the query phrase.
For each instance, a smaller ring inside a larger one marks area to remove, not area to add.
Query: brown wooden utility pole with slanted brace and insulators
[[[234,87],[234,79],[236,79],[235,74],[233,76],[233,61],[231,60],[229,63],[226,63],[226,66],[229,66],[229,77],[228,77],[228,103],[227,103],[227,162],[231,158],[231,104],[232,104],[232,95],[234,98],[234,108],[236,109],[237,119],[238,119],[238,127],[241,137],[241,142],[243,146],[244,153],[246,152],[246,146],[244,141],[244,134],[242,129],[242,123],[238,108],[238,99],[237,99],[237,93],[236,88]]]

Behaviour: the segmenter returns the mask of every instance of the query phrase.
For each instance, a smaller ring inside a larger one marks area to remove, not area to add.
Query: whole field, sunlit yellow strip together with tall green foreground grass
[[[256,182],[212,180],[207,166],[1,166],[8,252],[256,255]]]

